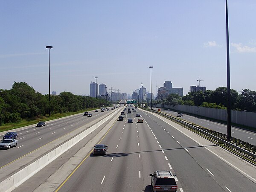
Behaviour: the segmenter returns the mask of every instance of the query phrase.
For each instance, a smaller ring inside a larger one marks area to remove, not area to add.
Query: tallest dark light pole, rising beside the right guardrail
[[[231,93],[230,93],[230,58],[229,58],[229,33],[228,33],[228,14],[226,0],[226,38],[227,38],[227,141],[231,139]]]

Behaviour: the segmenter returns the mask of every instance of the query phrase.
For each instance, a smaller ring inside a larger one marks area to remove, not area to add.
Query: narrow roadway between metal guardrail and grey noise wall
[[[158,108],[154,109],[158,110]],[[161,109],[164,113],[169,113],[170,115],[177,116],[177,112],[175,111],[168,111],[165,109]],[[183,117],[180,117],[180,119],[184,119],[188,122],[195,123],[196,125],[200,125],[204,128],[209,128],[224,134],[227,134],[227,125],[219,123],[219,122],[213,122],[207,119],[202,119],[200,117],[195,117],[187,114],[183,114]],[[256,132],[253,131],[247,131],[241,128],[236,128],[231,126],[231,136],[236,137],[237,139],[243,140],[247,143],[251,143],[253,145],[256,145]]]

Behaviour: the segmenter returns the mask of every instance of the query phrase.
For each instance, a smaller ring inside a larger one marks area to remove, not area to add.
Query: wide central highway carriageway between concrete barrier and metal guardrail
[[[136,113],[143,116],[144,123],[137,123]],[[134,123],[126,123],[128,118],[134,119]],[[175,173],[179,192],[255,191],[255,166],[189,131],[184,134],[185,128],[163,117],[137,109],[137,112],[125,113],[124,119],[114,120],[109,131],[94,143],[108,145],[105,156],[94,156],[92,148],[86,154],[79,152],[84,158],[64,182],[55,179],[61,169],[65,170],[62,165],[49,180],[42,181],[43,184],[36,183],[34,188],[29,188],[31,183],[39,182],[38,178],[42,177],[39,172],[35,175],[37,180],[31,178],[15,191],[150,191],[149,174],[155,170]],[[246,165],[243,170],[246,174],[229,163],[232,158],[237,160],[236,166]]]

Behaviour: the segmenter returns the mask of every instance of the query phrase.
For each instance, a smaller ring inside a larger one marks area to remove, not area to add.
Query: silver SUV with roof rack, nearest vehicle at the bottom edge
[[[176,175],[170,171],[155,171],[151,176],[151,189],[153,192],[177,192]]]

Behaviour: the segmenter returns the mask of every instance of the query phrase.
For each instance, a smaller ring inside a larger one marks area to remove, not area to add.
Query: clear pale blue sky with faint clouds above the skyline
[[[229,0],[231,88],[255,90],[256,0]],[[88,95],[95,81],[130,93],[227,87],[225,0],[0,0],[0,88]],[[239,92],[241,93],[241,92]]]

